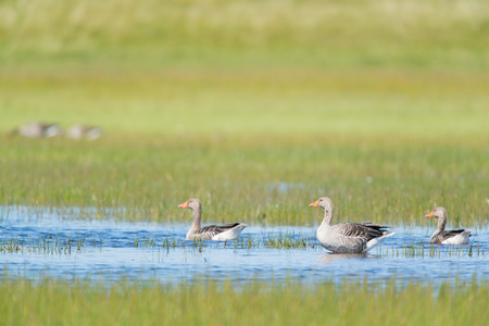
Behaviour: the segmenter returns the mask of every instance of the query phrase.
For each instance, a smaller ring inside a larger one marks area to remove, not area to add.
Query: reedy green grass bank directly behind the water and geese
[[[329,196],[337,221],[423,225],[436,203],[467,227],[488,218],[486,143],[328,135],[16,138],[0,145],[0,201],[181,222],[190,213],[176,206],[198,197],[205,221],[310,225],[321,212],[309,203]]]

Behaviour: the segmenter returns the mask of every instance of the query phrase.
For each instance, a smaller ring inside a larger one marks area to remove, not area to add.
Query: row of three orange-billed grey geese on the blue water
[[[333,202],[327,197],[322,197],[312,204],[312,208],[324,210],[323,223],[316,231],[319,243],[327,250],[335,253],[362,253],[367,252],[394,233],[388,231],[387,226],[364,223],[339,223],[331,225]],[[193,223],[187,233],[188,240],[234,240],[237,239],[244,227],[243,223],[233,223],[226,225],[200,226],[202,218],[202,203],[199,199],[189,199],[178,205],[180,209],[190,209],[193,215]],[[447,211],[443,208],[436,208],[426,217],[438,218],[438,226],[435,234],[429,239],[429,243],[436,244],[467,244],[469,230],[455,229],[444,230],[447,224]]]

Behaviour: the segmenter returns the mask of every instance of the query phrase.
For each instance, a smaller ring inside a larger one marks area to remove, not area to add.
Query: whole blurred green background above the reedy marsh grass
[[[487,1],[0,2],[8,130],[485,135]]]

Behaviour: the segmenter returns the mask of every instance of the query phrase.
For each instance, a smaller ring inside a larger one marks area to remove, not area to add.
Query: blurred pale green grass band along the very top
[[[68,1],[0,4],[7,66],[487,68],[489,4]]]

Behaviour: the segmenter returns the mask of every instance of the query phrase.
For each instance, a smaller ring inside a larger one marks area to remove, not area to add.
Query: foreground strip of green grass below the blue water
[[[314,286],[249,280],[0,283],[0,325],[477,325],[488,318],[486,281]],[[212,300],[212,304],[209,301]]]

